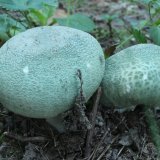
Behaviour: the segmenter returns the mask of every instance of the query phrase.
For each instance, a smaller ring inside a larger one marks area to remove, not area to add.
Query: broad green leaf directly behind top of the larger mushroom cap
[[[96,27],[94,22],[88,16],[80,13],[68,16],[67,18],[58,18],[56,20],[58,24],[62,26],[68,26],[86,32],[92,32]]]

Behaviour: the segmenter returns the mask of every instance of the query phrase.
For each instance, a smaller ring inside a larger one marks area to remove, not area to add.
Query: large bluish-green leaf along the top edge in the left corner
[[[43,5],[57,7],[58,0],[0,0],[0,6],[8,10],[40,9]]]

